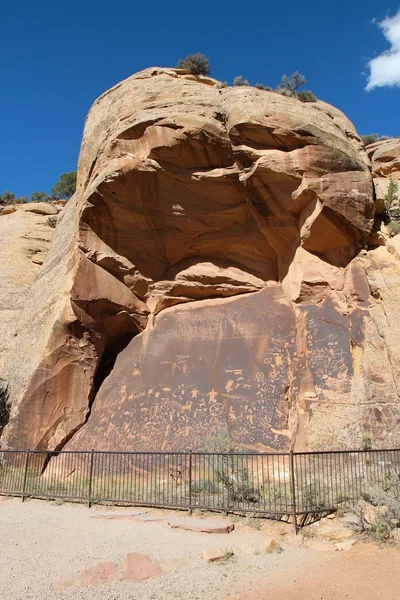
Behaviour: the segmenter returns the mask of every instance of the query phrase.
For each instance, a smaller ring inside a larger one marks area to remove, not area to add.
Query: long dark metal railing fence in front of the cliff
[[[0,495],[252,513],[295,525],[400,476],[400,449],[290,453],[3,450]]]

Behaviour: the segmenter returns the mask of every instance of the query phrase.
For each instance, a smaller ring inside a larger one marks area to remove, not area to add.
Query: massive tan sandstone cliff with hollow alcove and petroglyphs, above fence
[[[365,249],[374,197],[325,103],[165,69],[117,85],[6,362],[5,443],[399,443],[400,263]]]

